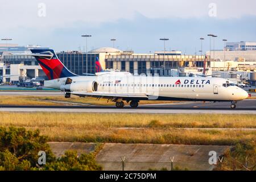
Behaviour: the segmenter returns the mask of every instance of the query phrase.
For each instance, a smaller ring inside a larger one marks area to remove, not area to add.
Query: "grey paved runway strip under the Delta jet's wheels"
[[[69,113],[149,113],[149,114],[256,114],[256,100],[238,102],[230,109],[229,102],[177,102],[172,104],[140,105],[137,109],[126,106],[0,106],[10,112],[69,112]]]

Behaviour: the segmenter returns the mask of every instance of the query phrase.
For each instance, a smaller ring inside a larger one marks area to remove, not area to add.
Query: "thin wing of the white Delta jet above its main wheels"
[[[71,92],[80,97],[97,97],[97,98],[148,98],[145,93],[108,93],[108,92]]]

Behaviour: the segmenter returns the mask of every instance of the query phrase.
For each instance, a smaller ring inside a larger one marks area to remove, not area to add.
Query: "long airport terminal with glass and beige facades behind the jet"
[[[13,47],[10,48],[11,46]],[[26,46],[21,48],[16,44],[11,46],[3,48],[0,45],[2,50],[0,52],[0,76],[5,76],[4,82],[15,83],[34,77],[46,78],[34,57],[9,54],[10,52],[30,53],[31,48],[43,49],[43,47]],[[214,59],[212,52],[211,59],[210,56],[204,55],[183,55],[180,51],[134,53],[111,47],[93,49],[88,53],[68,51],[57,52],[56,54],[65,67],[77,75],[94,74],[97,59],[103,69],[127,71],[134,75],[190,76],[187,73],[202,72],[204,61],[208,75],[211,75],[213,69],[214,71],[226,71],[227,68],[230,71],[256,71],[256,51],[225,51],[225,61],[224,51],[216,51]]]

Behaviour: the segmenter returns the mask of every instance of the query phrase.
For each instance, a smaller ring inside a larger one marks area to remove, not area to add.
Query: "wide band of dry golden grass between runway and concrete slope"
[[[1,126],[39,129],[57,142],[170,143],[232,145],[256,140],[256,115],[0,113]],[[212,128],[210,130],[185,130]]]

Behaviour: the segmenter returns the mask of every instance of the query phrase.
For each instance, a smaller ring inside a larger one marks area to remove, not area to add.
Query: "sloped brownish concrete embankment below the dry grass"
[[[65,150],[76,150],[79,154],[93,152],[95,143],[49,142],[56,156],[64,154]],[[183,144],[122,144],[105,143],[96,156],[97,163],[104,170],[127,171],[148,169],[171,169],[173,167],[188,170],[212,170],[209,164],[209,152],[215,151],[217,158],[224,154],[230,146],[197,146]],[[125,158],[122,163],[121,158]]]

